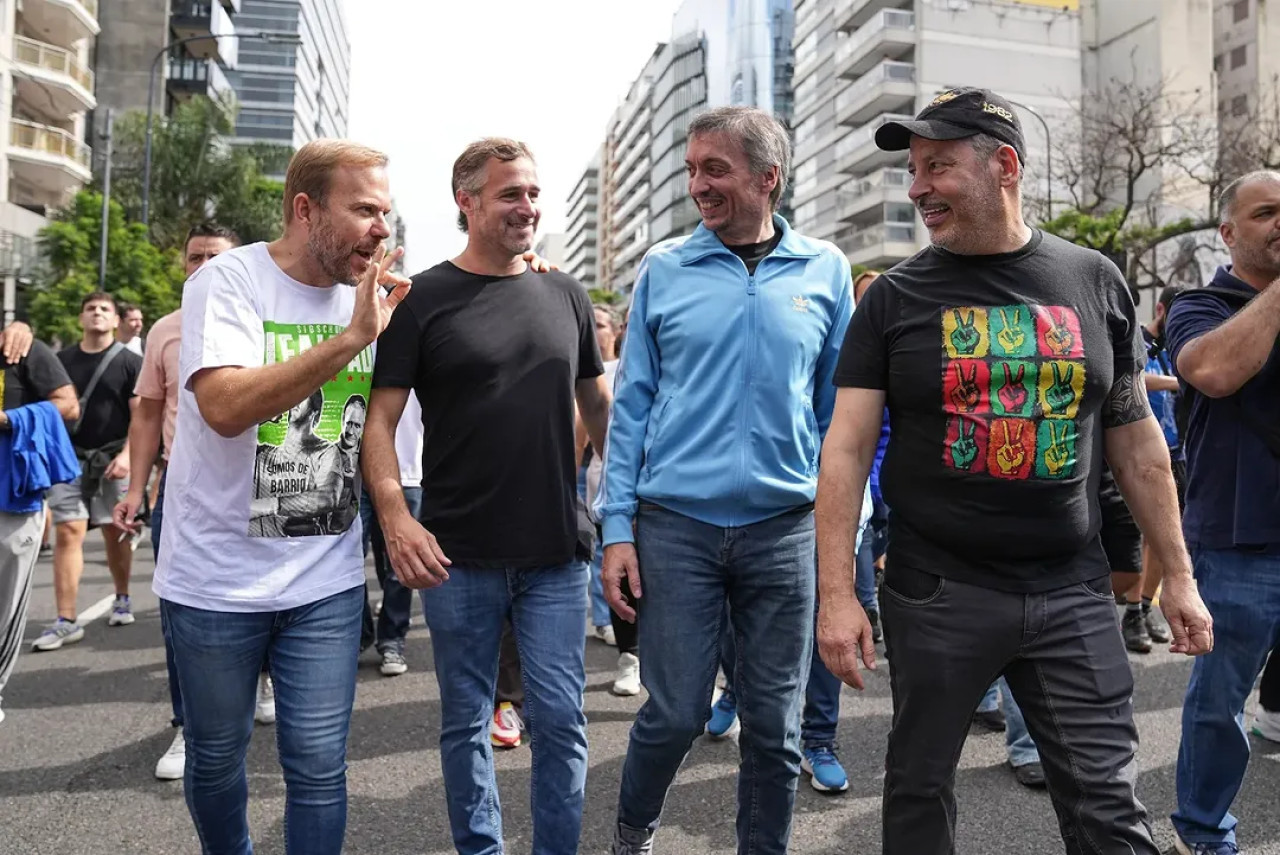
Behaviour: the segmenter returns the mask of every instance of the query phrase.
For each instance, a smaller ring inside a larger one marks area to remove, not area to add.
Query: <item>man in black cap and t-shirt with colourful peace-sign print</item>
[[[818,639],[846,681],[859,655],[874,662],[850,532],[887,401],[884,854],[952,851],[956,760],[1004,675],[1066,851],[1156,855],[1133,788],[1133,675],[1098,538],[1103,459],[1167,568],[1172,650],[1210,650],[1212,619],[1143,392],[1128,288],[1100,253],[1027,227],[1025,148],[1004,99],[943,92],[876,140],[910,148],[932,246],[876,282],[845,339],[818,490]]]

